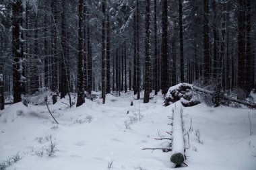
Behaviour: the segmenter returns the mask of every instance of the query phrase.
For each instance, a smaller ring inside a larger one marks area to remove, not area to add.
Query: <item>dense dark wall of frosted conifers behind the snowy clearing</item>
[[[147,103],[181,82],[243,99],[256,85],[255,9],[251,0],[2,0],[1,109],[4,98],[45,90],[76,93],[78,106],[92,91],[104,103],[133,89]]]

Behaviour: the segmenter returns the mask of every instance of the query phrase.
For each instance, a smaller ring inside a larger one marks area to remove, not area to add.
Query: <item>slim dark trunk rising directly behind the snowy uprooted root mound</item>
[[[181,59],[181,83],[185,81],[184,78],[184,54],[183,54],[183,2],[179,0],[179,36],[180,36],[180,59]]]

